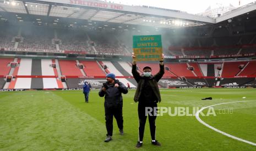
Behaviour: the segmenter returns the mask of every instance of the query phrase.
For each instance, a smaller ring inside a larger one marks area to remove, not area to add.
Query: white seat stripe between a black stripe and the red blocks
[[[42,59],[41,67],[42,67],[42,75],[55,75],[51,59]],[[58,82],[56,78],[42,78],[43,80],[43,89],[55,89],[62,88],[62,86],[58,86]]]

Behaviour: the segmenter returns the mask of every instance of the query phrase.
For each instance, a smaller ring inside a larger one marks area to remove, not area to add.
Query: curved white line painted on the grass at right
[[[250,101],[256,101],[256,100],[250,100]],[[221,133],[222,135],[226,135],[227,137],[233,138],[233,139],[235,139],[235,140],[238,140],[238,141],[241,141],[241,142],[244,142],[244,143],[248,143],[248,144],[252,144],[253,146],[256,146],[256,143],[253,143],[253,142],[250,142],[250,141],[247,141],[247,140],[243,140],[242,138],[239,138],[239,137],[230,135],[230,134],[228,134],[228,133],[225,133],[225,132],[223,132],[223,131],[220,131],[220,130],[216,129],[216,128],[213,127],[213,126],[210,126],[209,124],[206,124],[206,123],[205,123],[203,120],[201,120],[200,117],[199,117],[199,113],[202,112],[204,109],[209,108],[209,107],[213,107],[213,106],[217,106],[217,105],[221,105],[221,104],[237,103],[237,102],[250,102],[250,101],[226,102],[226,103],[219,103],[219,104],[214,104],[214,105],[211,105],[211,106],[208,106],[208,107],[204,107],[204,108],[201,108],[197,113],[195,113],[195,118],[197,118],[197,120],[198,120],[201,124],[204,124],[205,126],[209,127],[210,129],[212,129],[212,130],[214,130],[214,131],[216,131],[216,132]]]

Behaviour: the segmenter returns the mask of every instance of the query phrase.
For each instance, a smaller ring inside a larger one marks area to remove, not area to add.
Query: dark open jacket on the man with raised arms
[[[134,95],[134,101],[138,102],[139,98],[141,96],[141,91],[144,86],[145,79],[143,78],[143,75],[140,75],[137,71],[136,65],[133,65],[132,67],[132,74],[136,82],[138,83],[137,90]],[[157,82],[162,78],[162,76],[165,74],[165,68],[164,65],[160,65],[160,71],[156,75],[151,75],[149,77],[149,85],[151,86],[152,90],[155,93],[155,96],[157,98],[157,102],[161,102],[161,96],[160,96],[160,91],[158,88]]]

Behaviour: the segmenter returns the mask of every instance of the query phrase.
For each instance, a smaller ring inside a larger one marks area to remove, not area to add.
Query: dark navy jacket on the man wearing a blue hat
[[[114,85],[118,84],[118,88],[115,88]],[[100,89],[99,96],[104,97],[105,96],[105,107],[117,107],[117,106],[123,106],[123,94],[128,93],[128,89],[126,86],[124,86],[123,83],[119,82],[119,80],[115,80],[114,84],[109,84],[106,82],[107,89],[106,91],[103,91]],[[102,86],[103,87],[103,86]]]

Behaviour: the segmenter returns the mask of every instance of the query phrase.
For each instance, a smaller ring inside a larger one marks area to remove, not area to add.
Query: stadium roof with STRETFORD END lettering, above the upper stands
[[[50,16],[56,18],[72,18],[90,21],[112,22],[116,24],[142,25],[163,28],[177,28],[215,24],[238,15],[256,10],[251,3],[235,9],[217,19],[206,18],[178,10],[134,7],[129,5],[88,0],[0,0],[0,11]],[[58,21],[53,22],[58,24]]]

